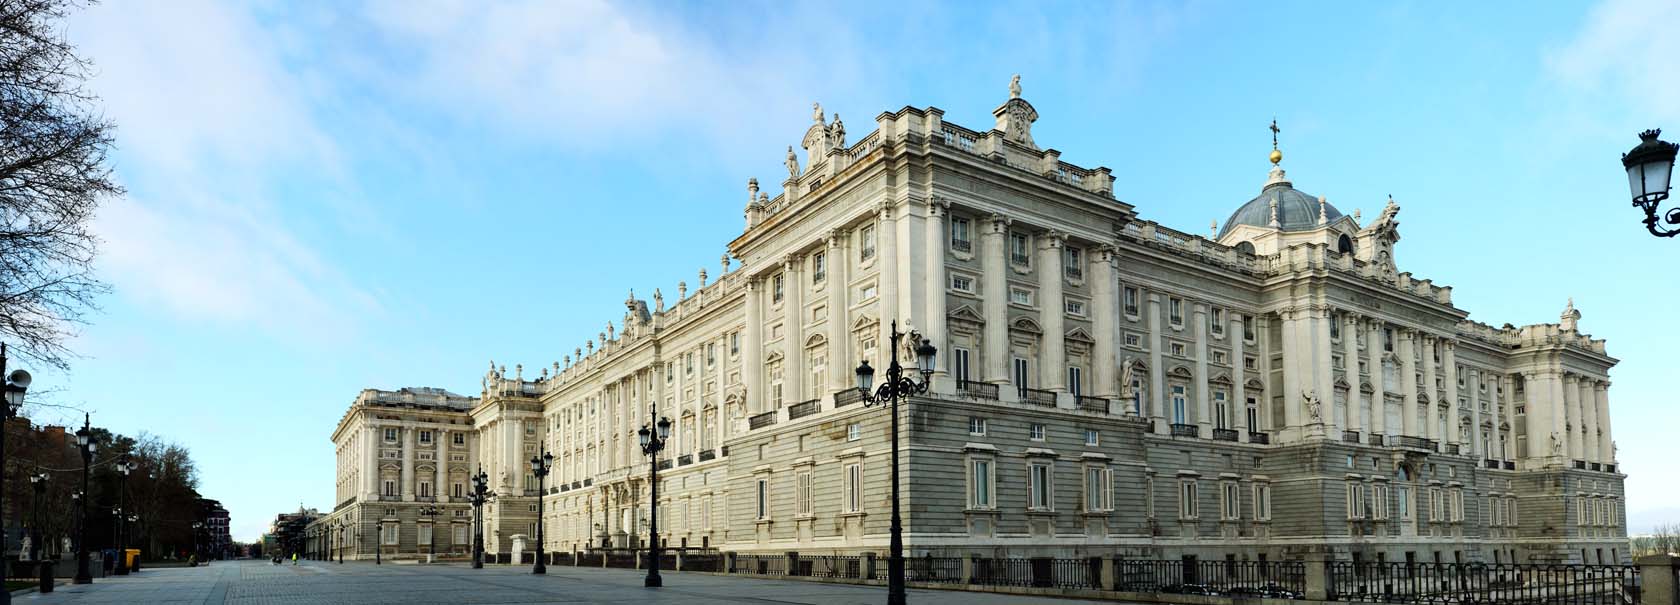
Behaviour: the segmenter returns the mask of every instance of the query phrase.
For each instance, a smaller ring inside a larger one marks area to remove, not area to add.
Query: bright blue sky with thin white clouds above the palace
[[[1557,321],[1623,360],[1633,529],[1663,482],[1680,242],[1645,235],[1620,153],[1680,136],[1680,5],[133,2],[72,18],[119,124],[104,311],[52,400],[192,447],[250,539],[333,506],[360,388],[475,393],[716,272],[748,176],[810,104],[860,138],[937,106],[984,128],[1021,74],[1035,139],[1203,234],[1284,129],[1295,185],[1401,203],[1403,271],[1492,324]],[[67,418],[39,410],[37,420]]]

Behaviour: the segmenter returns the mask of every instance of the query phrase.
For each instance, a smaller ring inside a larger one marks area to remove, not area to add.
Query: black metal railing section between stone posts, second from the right
[[[1117,590],[1176,595],[1302,598],[1302,561],[1114,561]]]

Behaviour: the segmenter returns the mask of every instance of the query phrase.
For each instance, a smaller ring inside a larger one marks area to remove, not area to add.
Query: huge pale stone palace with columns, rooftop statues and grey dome
[[[692,291],[632,294],[529,378],[492,363],[477,398],[363,392],[323,523],[351,556],[462,553],[482,467],[489,551],[534,550],[538,523],[549,551],[640,546],[635,432],[667,417],[665,546],[884,553],[889,412],[853,370],[911,361],[897,324],[939,348],[899,412],[912,556],[1628,561],[1616,360],[1572,304],[1468,319],[1399,271],[1399,205],[1344,215],[1275,141],[1258,195],[1201,237],[1040,148],[1018,82],[993,116],[904,108],[848,141],[816,108]]]

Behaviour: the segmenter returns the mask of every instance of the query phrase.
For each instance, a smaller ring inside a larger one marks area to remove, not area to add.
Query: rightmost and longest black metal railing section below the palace
[[[1326,568],[1331,600],[1611,605],[1640,600],[1631,565],[1351,563]]]

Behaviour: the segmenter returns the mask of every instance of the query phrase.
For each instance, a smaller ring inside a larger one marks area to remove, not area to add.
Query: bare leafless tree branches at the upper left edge
[[[92,64],[60,22],[77,0],[0,0],[0,338],[64,368],[108,286],[92,274],[99,203],[123,193],[114,126],[84,91]]]

